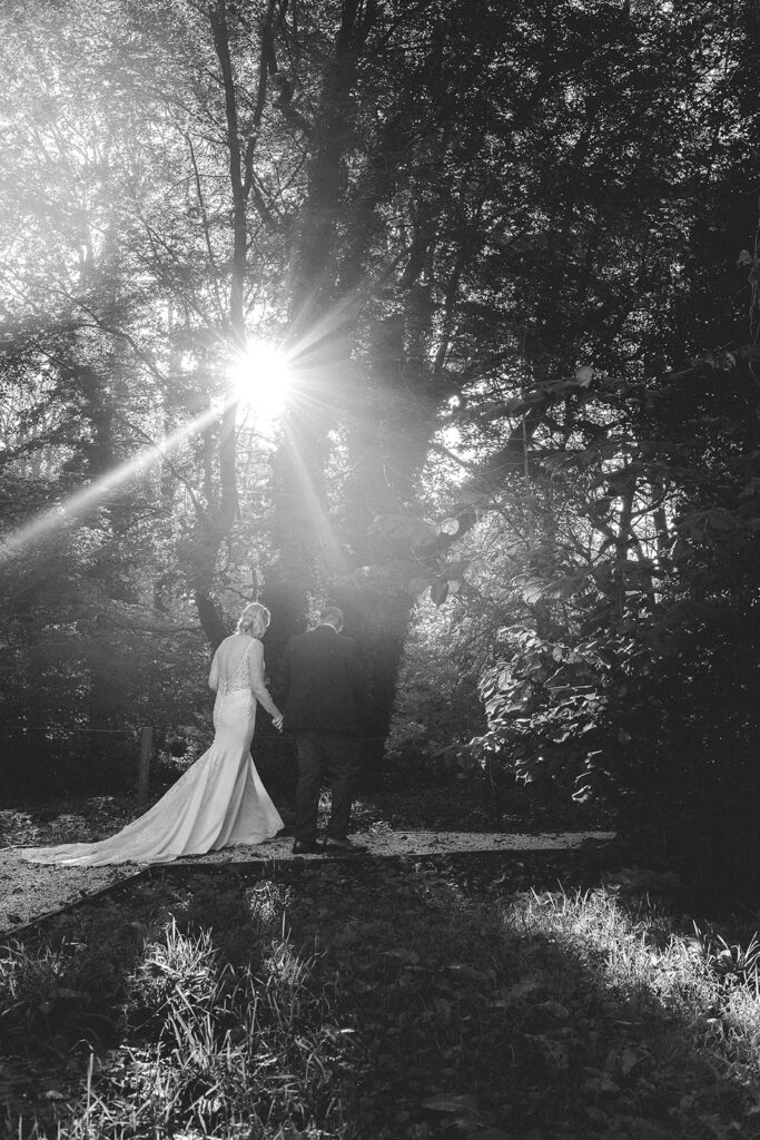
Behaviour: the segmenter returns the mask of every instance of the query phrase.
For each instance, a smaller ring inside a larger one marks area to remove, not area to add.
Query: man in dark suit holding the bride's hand
[[[295,790],[294,855],[367,850],[348,837],[358,772],[367,684],[357,643],[341,633],[343,612],[330,605],[309,633],[291,637],[283,659],[286,731],[295,733],[299,783]],[[333,787],[324,847],[317,842],[322,777]]]

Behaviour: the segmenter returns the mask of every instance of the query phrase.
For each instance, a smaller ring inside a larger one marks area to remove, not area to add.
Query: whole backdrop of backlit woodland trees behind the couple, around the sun
[[[186,732],[242,603],[275,667],[332,600],[374,764],[414,616],[394,748],[640,796],[680,683],[708,787],[760,707],[758,42],[717,0],[6,10],[14,739]]]

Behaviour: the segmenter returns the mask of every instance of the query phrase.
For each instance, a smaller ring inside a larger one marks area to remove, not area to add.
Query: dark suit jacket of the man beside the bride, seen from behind
[[[289,732],[361,733],[367,686],[351,637],[327,625],[291,637],[280,682]]]

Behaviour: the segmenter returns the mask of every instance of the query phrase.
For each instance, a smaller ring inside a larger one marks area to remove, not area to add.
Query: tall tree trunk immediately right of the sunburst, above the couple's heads
[[[291,255],[291,341],[299,345],[314,337],[317,343],[303,349],[296,361],[304,400],[288,412],[275,461],[272,530],[278,557],[265,573],[264,588],[272,625],[275,618],[278,624],[278,633],[269,638],[272,658],[289,634],[303,628],[310,600],[324,594],[330,577],[349,569],[325,492],[328,433],[349,372],[346,345],[329,327],[336,300],[336,222],[356,116],[352,91],[375,14],[375,0],[343,0],[333,58],[322,80],[307,201]]]

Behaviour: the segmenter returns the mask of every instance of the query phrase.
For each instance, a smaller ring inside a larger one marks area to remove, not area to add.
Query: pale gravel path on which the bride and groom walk
[[[570,850],[587,840],[604,842],[614,831],[553,831],[544,834],[504,834],[474,831],[392,831],[370,828],[353,838],[367,844],[369,854],[446,855],[493,850]],[[210,855],[177,860],[177,863],[204,866],[214,863],[250,863],[255,860],[291,860],[293,839],[281,837],[256,847],[235,847]],[[319,858],[319,855],[305,856]],[[13,935],[40,915],[77,902],[96,891],[129,879],[138,868],[121,866],[70,868],[42,866],[27,863],[17,848],[0,850],[0,935]]]

